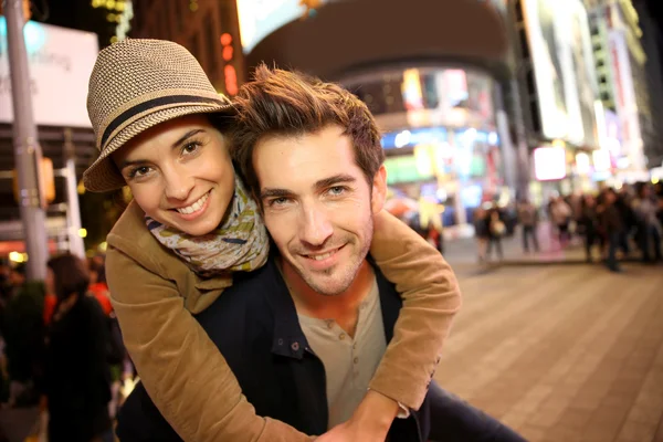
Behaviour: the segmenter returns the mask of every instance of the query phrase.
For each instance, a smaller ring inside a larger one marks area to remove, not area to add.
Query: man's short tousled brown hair
[[[266,136],[301,136],[338,125],[350,138],[355,161],[369,185],[385,160],[380,131],[370,110],[334,83],[261,64],[254,80],[240,88],[235,106],[232,154],[254,194],[260,193],[260,183],[253,149]]]

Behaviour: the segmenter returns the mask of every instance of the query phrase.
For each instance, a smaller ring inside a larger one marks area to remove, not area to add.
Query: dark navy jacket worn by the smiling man
[[[402,303],[377,267],[376,276],[389,343]],[[327,431],[325,368],[308,347],[273,257],[255,272],[235,273],[232,287],[197,319],[225,357],[259,415],[281,420],[306,434]],[[425,441],[429,428],[427,399],[410,418],[393,421],[389,439]],[[123,442],[181,440],[143,385],[136,387],[119,411],[116,431]]]

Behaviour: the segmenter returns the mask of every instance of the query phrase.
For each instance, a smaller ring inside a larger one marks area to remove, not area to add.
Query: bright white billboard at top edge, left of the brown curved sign
[[[178,0],[181,1],[181,0]],[[322,0],[327,3],[329,0]],[[245,54],[265,36],[304,15],[299,0],[238,0],[242,50]]]

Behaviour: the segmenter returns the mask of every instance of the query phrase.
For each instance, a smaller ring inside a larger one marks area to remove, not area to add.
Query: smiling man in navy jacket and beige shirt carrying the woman
[[[347,91],[264,66],[236,107],[235,159],[276,251],[197,318],[259,414],[322,434],[366,394],[401,307],[367,260],[387,190],[379,133]],[[436,386],[418,411],[393,403],[391,415],[402,419],[385,422],[381,440],[520,440]],[[140,387],[117,433],[178,439]]]

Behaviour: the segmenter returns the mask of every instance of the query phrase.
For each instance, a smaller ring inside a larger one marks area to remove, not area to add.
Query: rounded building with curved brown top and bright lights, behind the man
[[[295,67],[358,95],[383,131],[392,191],[439,211],[425,218],[453,225],[448,232],[463,234],[476,207],[508,199],[507,38],[492,6],[303,3],[238,2],[249,67]]]

